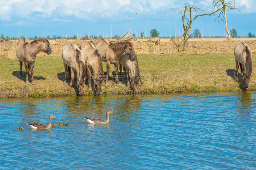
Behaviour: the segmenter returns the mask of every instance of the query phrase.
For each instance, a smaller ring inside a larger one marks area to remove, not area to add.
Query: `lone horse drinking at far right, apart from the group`
[[[236,58],[236,72],[238,74],[238,68],[240,65],[241,74],[244,75],[243,80],[245,88],[248,88],[252,74],[252,51],[248,44],[239,42],[235,46],[234,54]]]

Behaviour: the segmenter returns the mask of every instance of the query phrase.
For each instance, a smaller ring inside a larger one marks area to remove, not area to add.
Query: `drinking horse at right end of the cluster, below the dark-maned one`
[[[127,88],[130,88],[130,85],[129,85],[129,80],[130,80],[134,94],[138,94],[139,81],[140,81],[141,88],[144,88],[144,85],[143,85],[143,81],[140,76],[140,70],[139,70],[139,64],[138,64],[137,57],[135,58],[135,60],[131,60],[127,54],[123,53],[119,60],[120,74],[122,73],[122,66],[124,68],[124,72],[126,73]],[[129,70],[131,72],[131,77],[129,75]]]

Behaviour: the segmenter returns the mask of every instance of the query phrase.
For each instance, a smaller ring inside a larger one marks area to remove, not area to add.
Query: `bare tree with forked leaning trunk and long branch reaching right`
[[[192,22],[197,18],[197,17],[200,17],[200,16],[205,16],[205,15],[208,15],[208,16],[211,16],[211,15],[214,15],[216,12],[219,12],[223,9],[222,6],[220,6],[220,8],[217,8],[218,6],[213,6],[213,10],[211,13],[206,13],[206,10],[203,10],[202,6],[198,7],[196,4],[195,4],[196,1],[194,1],[193,4],[184,4],[183,8],[180,8],[180,9],[175,9],[178,13],[181,14],[182,16],[182,23],[183,23],[183,35],[181,37],[181,41],[180,41],[180,46],[179,46],[179,51],[183,51],[184,50],[184,47],[188,41],[188,39],[190,38],[190,36],[192,34],[189,34],[190,32],[190,29],[191,29],[191,25],[192,25]],[[189,13],[189,17],[186,16],[186,12]],[[203,14],[197,14],[199,12],[203,12]],[[193,15],[194,14],[194,15]],[[193,15],[193,17],[192,17]],[[187,23],[186,23],[187,22]]]

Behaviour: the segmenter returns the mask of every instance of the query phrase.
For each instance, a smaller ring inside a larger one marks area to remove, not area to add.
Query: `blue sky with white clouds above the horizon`
[[[243,10],[227,11],[228,29],[238,36],[256,35],[256,0],[237,0]],[[78,37],[122,36],[128,30],[137,36],[150,35],[156,29],[159,36],[180,36],[182,17],[176,10],[193,1],[179,0],[1,0],[0,34],[43,37],[50,35]],[[212,11],[212,1],[196,1],[206,12]],[[137,13],[137,14],[136,14]],[[202,13],[202,12],[201,12]],[[198,14],[201,14],[200,12]],[[217,16],[202,16],[193,21],[191,33],[199,29],[204,36],[226,36],[225,24]]]

